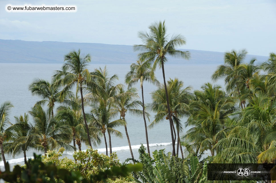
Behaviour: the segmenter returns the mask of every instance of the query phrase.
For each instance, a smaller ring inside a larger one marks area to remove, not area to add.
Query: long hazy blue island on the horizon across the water
[[[63,63],[63,57],[68,50],[79,48],[83,53],[91,54],[92,63],[131,64],[137,60],[137,52],[129,45],[0,39],[0,63]],[[184,50],[190,52],[190,60],[170,58],[169,63],[222,64],[224,60],[222,52]],[[267,56],[247,55],[245,61],[251,58],[256,58],[258,63],[268,59]]]

